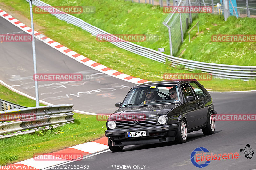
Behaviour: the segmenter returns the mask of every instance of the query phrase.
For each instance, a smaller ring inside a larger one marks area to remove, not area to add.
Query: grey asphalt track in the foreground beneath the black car
[[[256,92],[211,93],[211,96],[218,114],[255,113],[255,103],[252,101]],[[254,154],[251,159],[247,159],[244,153],[240,152],[240,149],[244,148],[246,144],[250,144],[251,148],[256,151],[255,128],[256,124],[252,121],[216,121],[216,129],[213,135],[204,136],[202,130],[195,131],[188,134],[187,142],[184,144],[170,142],[125,146],[122,152],[107,151],[92,156],[92,159],[87,158],[65,164],[67,165],[65,167],[68,167],[68,165],[69,167],[72,167],[71,165],[73,167],[75,165],[89,165],[92,170],[109,170],[117,169],[114,168],[115,165],[131,165],[130,169],[139,169],[137,165],[142,165],[143,169],[143,165],[145,165],[144,169],[148,170],[200,169],[191,163],[190,155],[197,147],[204,147],[213,154],[238,152],[239,157],[230,160],[212,160],[208,166],[201,169],[255,169],[256,155]],[[120,166],[118,167],[120,168]]]

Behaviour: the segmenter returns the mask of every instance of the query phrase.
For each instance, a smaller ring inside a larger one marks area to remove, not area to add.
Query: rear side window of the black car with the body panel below
[[[207,114],[208,114],[208,107],[206,106],[208,102],[208,98],[204,90],[198,85],[196,82],[189,82],[191,85],[193,91],[195,92],[196,98],[198,99],[198,102],[200,103],[200,108],[198,112],[200,113],[200,120],[198,121],[199,124],[203,125],[205,124],[207,120]]]

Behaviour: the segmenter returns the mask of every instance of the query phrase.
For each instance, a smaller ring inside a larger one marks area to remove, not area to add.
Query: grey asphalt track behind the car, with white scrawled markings
[[[0,33],[27,34],[0,17]],[[44,42],[36,41],[37,73],[82,73],[83,81],[38,81],[39,99],[52,104],[74,104],[74,109],[112,113],[132,84],[101,73],[71,59]],[[13,88],[35,97],[31,42],[0,44],[0,79]]]

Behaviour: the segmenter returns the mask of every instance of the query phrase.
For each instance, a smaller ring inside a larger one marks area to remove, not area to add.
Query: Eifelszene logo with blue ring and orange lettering
[[[197,152],[201,152],[201,153],[197,153]],[[198,147],[198,148],[194,149],[194,151],[192,151],[192,153],[190,155],[192,164],[198,168],[204,168],[210,164],[211,160],[226,160],[226,159],[239,158],[239,153],[237,153],[237,152],[236,153],[228,153],[228,154],[227,153],[213,154],[211,152],[210,154],[206,155],[207,152],[210,152],[210,151],[204,147]],[[199,163],[202,163],[202,164],[199,164]]]

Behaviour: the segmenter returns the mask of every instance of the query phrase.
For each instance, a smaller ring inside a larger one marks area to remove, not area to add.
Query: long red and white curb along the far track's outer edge
[[[1,10],[0,8],[0,16],[3,17],[4,19],[6,19],[7,21],[11,22],[13,25],[19,27],[21,30],[23,30],[24,32],[32,35],[32,30],[29,26],[26,26],[25,24],[23,24],[22,22],[18,21],[17,19],[13,18],[11,15],[9,15],[8,13],[6,13],[5,11]],[[124,81],[128,81],[131,83],[135,83],[135,84],[141,84],[141,83],[145,83],[145,82],[150,82],[148,80],[143,80],[141,78],[136,78],[124,73],[121,73],[119,71],[110,69],[100,63],[97,63],[81,54],[78,54],[77,52],[69,49],[68,47],[65,47],[63,45],[61,45],[59,42],[56,42],[48,37],[46,37],[45,35],[34,31],[34,35],[35,38],[43,41],[45,44],[51,46],[52,48],[60,51],[61,53],[69,56],[72,59],[75,59],[76,61],[83,63],[84,65],[91,67],[94,70],[100,71],[102,73],[108,74],[110,76],[113,76],[115,78],[119,78],[121,80]]]

